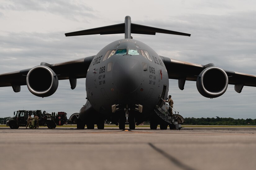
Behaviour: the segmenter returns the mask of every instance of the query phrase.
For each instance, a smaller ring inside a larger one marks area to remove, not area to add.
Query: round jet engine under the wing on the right
[[[218,67],[204,69],[196,80],[196,87],[199,93],[208,98],[221,96],[227,90],[227,73]]]

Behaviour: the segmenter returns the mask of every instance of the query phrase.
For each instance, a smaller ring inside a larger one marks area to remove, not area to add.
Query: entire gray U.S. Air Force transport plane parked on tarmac
[[[11,86],[19,92],[21,85],[27,85],[35,96],[51,96],[58,87],[58,80],[69,79],[71,89],[76,81],[86,78],[87,102],[81,108],[77,121],[78,129],[104,129],[104,121],[112,121],[125,129],[135,129],[143,121],[150,121],[150,128],[173,128],[175,121],[182,117],[169,115],[168,105],[163,99],[168,95],[168,79],[178,79],[178,87],[183,90],[186,80],[196,81],[201,95],[208,98],[221,96],[228,84],[235,85],[240,93],[244,86],[256,86],[254,75],[223,70],[214,66],[183,62],[159,56],[141,41],[134,40],[131,33],[155,33],[190,36],[175,32],[131,23],[126,16],[124,23],[66,33],[66,36],[92,34],[119,34],[125,37],[116,40],[99,51],[95,56],[68,62],[48,64],[0,74],[0,87]],[[176,123],[177,124],[177,123]]]

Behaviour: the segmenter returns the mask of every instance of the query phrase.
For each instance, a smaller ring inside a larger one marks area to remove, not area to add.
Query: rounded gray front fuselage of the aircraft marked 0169
[[[101,49],[86,77],[87,99],[103,114],[111,114],[114,104],[131,111],[140,104],[143,111],[137,113],[146,116],[167,97],[168,87],[167,70],[159,55],[134,39],[116,40]]]

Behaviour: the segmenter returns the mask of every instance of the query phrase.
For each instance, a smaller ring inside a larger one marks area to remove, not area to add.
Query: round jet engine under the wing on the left
[[[47,66],[35,66],[29,70],[26,83],[29,91],[38,97],[51,96],[58,88],[59,80]]]

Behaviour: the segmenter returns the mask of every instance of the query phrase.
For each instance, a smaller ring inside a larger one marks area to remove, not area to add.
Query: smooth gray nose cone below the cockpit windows
[[[135,91],[142,79],[142,68],[138,60],[124,58],[115,62],[113,66],[113,83],[120,92],[132,93]]]

